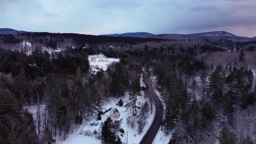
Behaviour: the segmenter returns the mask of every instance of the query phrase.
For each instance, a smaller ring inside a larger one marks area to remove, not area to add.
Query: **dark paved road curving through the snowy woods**
[[[147,133],[143,136],[143,138],[142,138],[141,142],[139,142],[139,144],[153,143],[156,134],[158,134],[158,130],[159,130],[160,124],[162,122],[162,115],[163,115],[162,103],[161,103],[158,95],[156,95],[154,90],[155,89],[153,87],[153,83],[152,83],[152,81],[149,80],[148,94],[149,94],[149,97],[152,97],[152,99],[154,100],[154,103],[155,103],[155,117],[154,117],[154,120],[153,120],[152,124],[150,125]]]

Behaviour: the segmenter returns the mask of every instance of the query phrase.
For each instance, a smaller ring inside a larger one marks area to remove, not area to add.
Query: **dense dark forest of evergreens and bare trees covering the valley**
[[[141,74],[148,79],[156,77],[154,85],[165,106],[162,125],[166,134],[173,135],[169,143],[254,143],[255,86],[245,53],[254,51],[253,46],[241,50],[232,63],[210,65],[207,56],[226,51],[223,47],[193,41],[184,41],[188,43],[185,46],[177,44],[179,41],[59,33],[0,38],[11,44],[30,39],[51,49],[57,49],[66,38],[76,44],[51,54],[42,47],[34,47],[31,55],[0,49],[1,143],[64,140],[75,125],[94,113],[100,119],[98,110],[104,101],[126,93],[132,115],[139,116],[141,133],[143,119],[150,111],[147,101],[137,112],[136,97],[142,89],[147,91],[147,87],[140,86]],[[141,44],[139,49],[133,48],[137,44]],[[120,58],[120,62],[93,74],[88,56],[97,53]],[[118,105],[123,106],[123,101]],[[36,107],[37,119],[28,112],[28,106]],[[121,143],[115,135],[116,127],[110,118],[103,123],[102,143]]]

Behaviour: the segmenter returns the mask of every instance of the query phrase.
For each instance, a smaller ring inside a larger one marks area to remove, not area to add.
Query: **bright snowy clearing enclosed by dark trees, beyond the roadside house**
[[[112,64],[113,62],[119,62],[117,58],[107,58],[106,56],[99,54],[99,55],[90,55],[88,57],[89,64],[91,71],[93,73],[97,73],[98,70],[107,70],[108,65]]]

